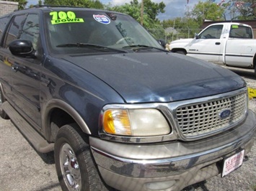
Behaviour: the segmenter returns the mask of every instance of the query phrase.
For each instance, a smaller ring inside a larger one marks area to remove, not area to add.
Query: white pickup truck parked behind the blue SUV
[[[194,39],[178,39],[169,50],[209,62],[250,67],[256,75],[256,39],[252,27],[235,22],[211,24]]]

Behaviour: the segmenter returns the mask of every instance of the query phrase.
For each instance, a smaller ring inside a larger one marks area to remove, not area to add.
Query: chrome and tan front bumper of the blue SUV
[[[159,144],[122,144],[90,137],[100,174],[118,190],[182,190],[222,170],[224,157],[255,141],[256,116],[252,111],[242,124],[199,141]]]

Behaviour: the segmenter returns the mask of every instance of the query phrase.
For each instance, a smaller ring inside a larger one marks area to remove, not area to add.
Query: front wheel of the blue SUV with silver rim
[[[94,165],[89,145],[76,124],[61,127],[56,136],[54,158],[62,190],[107,190]]]

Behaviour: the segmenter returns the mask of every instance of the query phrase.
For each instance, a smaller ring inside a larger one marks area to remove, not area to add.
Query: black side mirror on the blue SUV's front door
[[[15,39],[10,42],[9,50],[12,52],[12,55],[19,57],[35,57],[35,50],[32,42],[27,39]]]

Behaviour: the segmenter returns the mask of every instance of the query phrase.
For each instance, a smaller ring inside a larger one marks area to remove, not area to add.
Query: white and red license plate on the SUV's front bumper
[[[237,152],[231,157],[224,159],[224,165],[223,165],[221,177],[225,177],[227,174],[241,167],[243,159],[244,159],[244,150],[242,150],[241,152]]]

